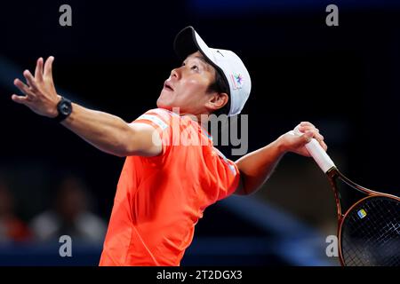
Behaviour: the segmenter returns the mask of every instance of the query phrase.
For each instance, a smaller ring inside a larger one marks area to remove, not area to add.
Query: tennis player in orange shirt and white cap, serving
[[[308,156],[311,138],[326,150],[316,127],[302,122],[300,137],[286,133],[236,162],[226,159],[205,124],[210,114],[240,114],[250,75],[234,52],[209,48],[192,27],[180,31],[174,48],[182,66],[165,81],[157,108],[131,123],[61,97],[52,81],[53,57],[38,59],[35,75],[24,71],[27,83],[14,82],[25,94],[12,95],[15,102],[126,157],[100,265],[179,265],[204,209],[232,193],[254,193],[284,153]]]

